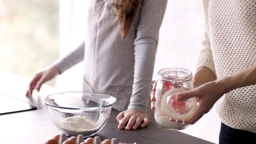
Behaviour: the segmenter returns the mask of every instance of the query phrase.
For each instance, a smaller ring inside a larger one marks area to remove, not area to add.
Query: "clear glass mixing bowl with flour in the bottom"
[[[116,98],[93,92],[61,92],[46,96],[44,103],[61,132],[90,137],[105,126]]]

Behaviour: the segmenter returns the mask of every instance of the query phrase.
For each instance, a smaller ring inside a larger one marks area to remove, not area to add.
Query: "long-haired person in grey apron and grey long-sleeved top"
[[[117,99],[118,128],[147,126],[150,84],[167,0],[92,0],[85,42],[32,78],[34,89],[84,60],[84,86]]]

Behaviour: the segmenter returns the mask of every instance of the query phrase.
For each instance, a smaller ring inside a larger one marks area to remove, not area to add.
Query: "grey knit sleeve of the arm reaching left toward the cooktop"
[[[84,42],[63,58],[59,58],[53,64],[59,69],[60,74],[72,66],[84,60]]]

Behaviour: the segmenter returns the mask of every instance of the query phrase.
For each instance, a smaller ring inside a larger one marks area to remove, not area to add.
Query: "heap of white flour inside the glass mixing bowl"
[[[87,136],[96,133],[100,128],[99,124],[92,122],[86,116],[82,117],[80,115],[58,120],[57,124],[66,134],[72,136],[77,136],[78,134]]]

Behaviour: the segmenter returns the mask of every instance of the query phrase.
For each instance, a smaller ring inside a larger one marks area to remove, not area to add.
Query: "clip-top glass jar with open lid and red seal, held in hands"
[[[157,73],[154,118],[161,128],[183,130],[190,126],[184,120],[190,118],[196,108],[196,98],[178,101],[175,96],[194,88],[192,72],[184,68],[165,68]]]

